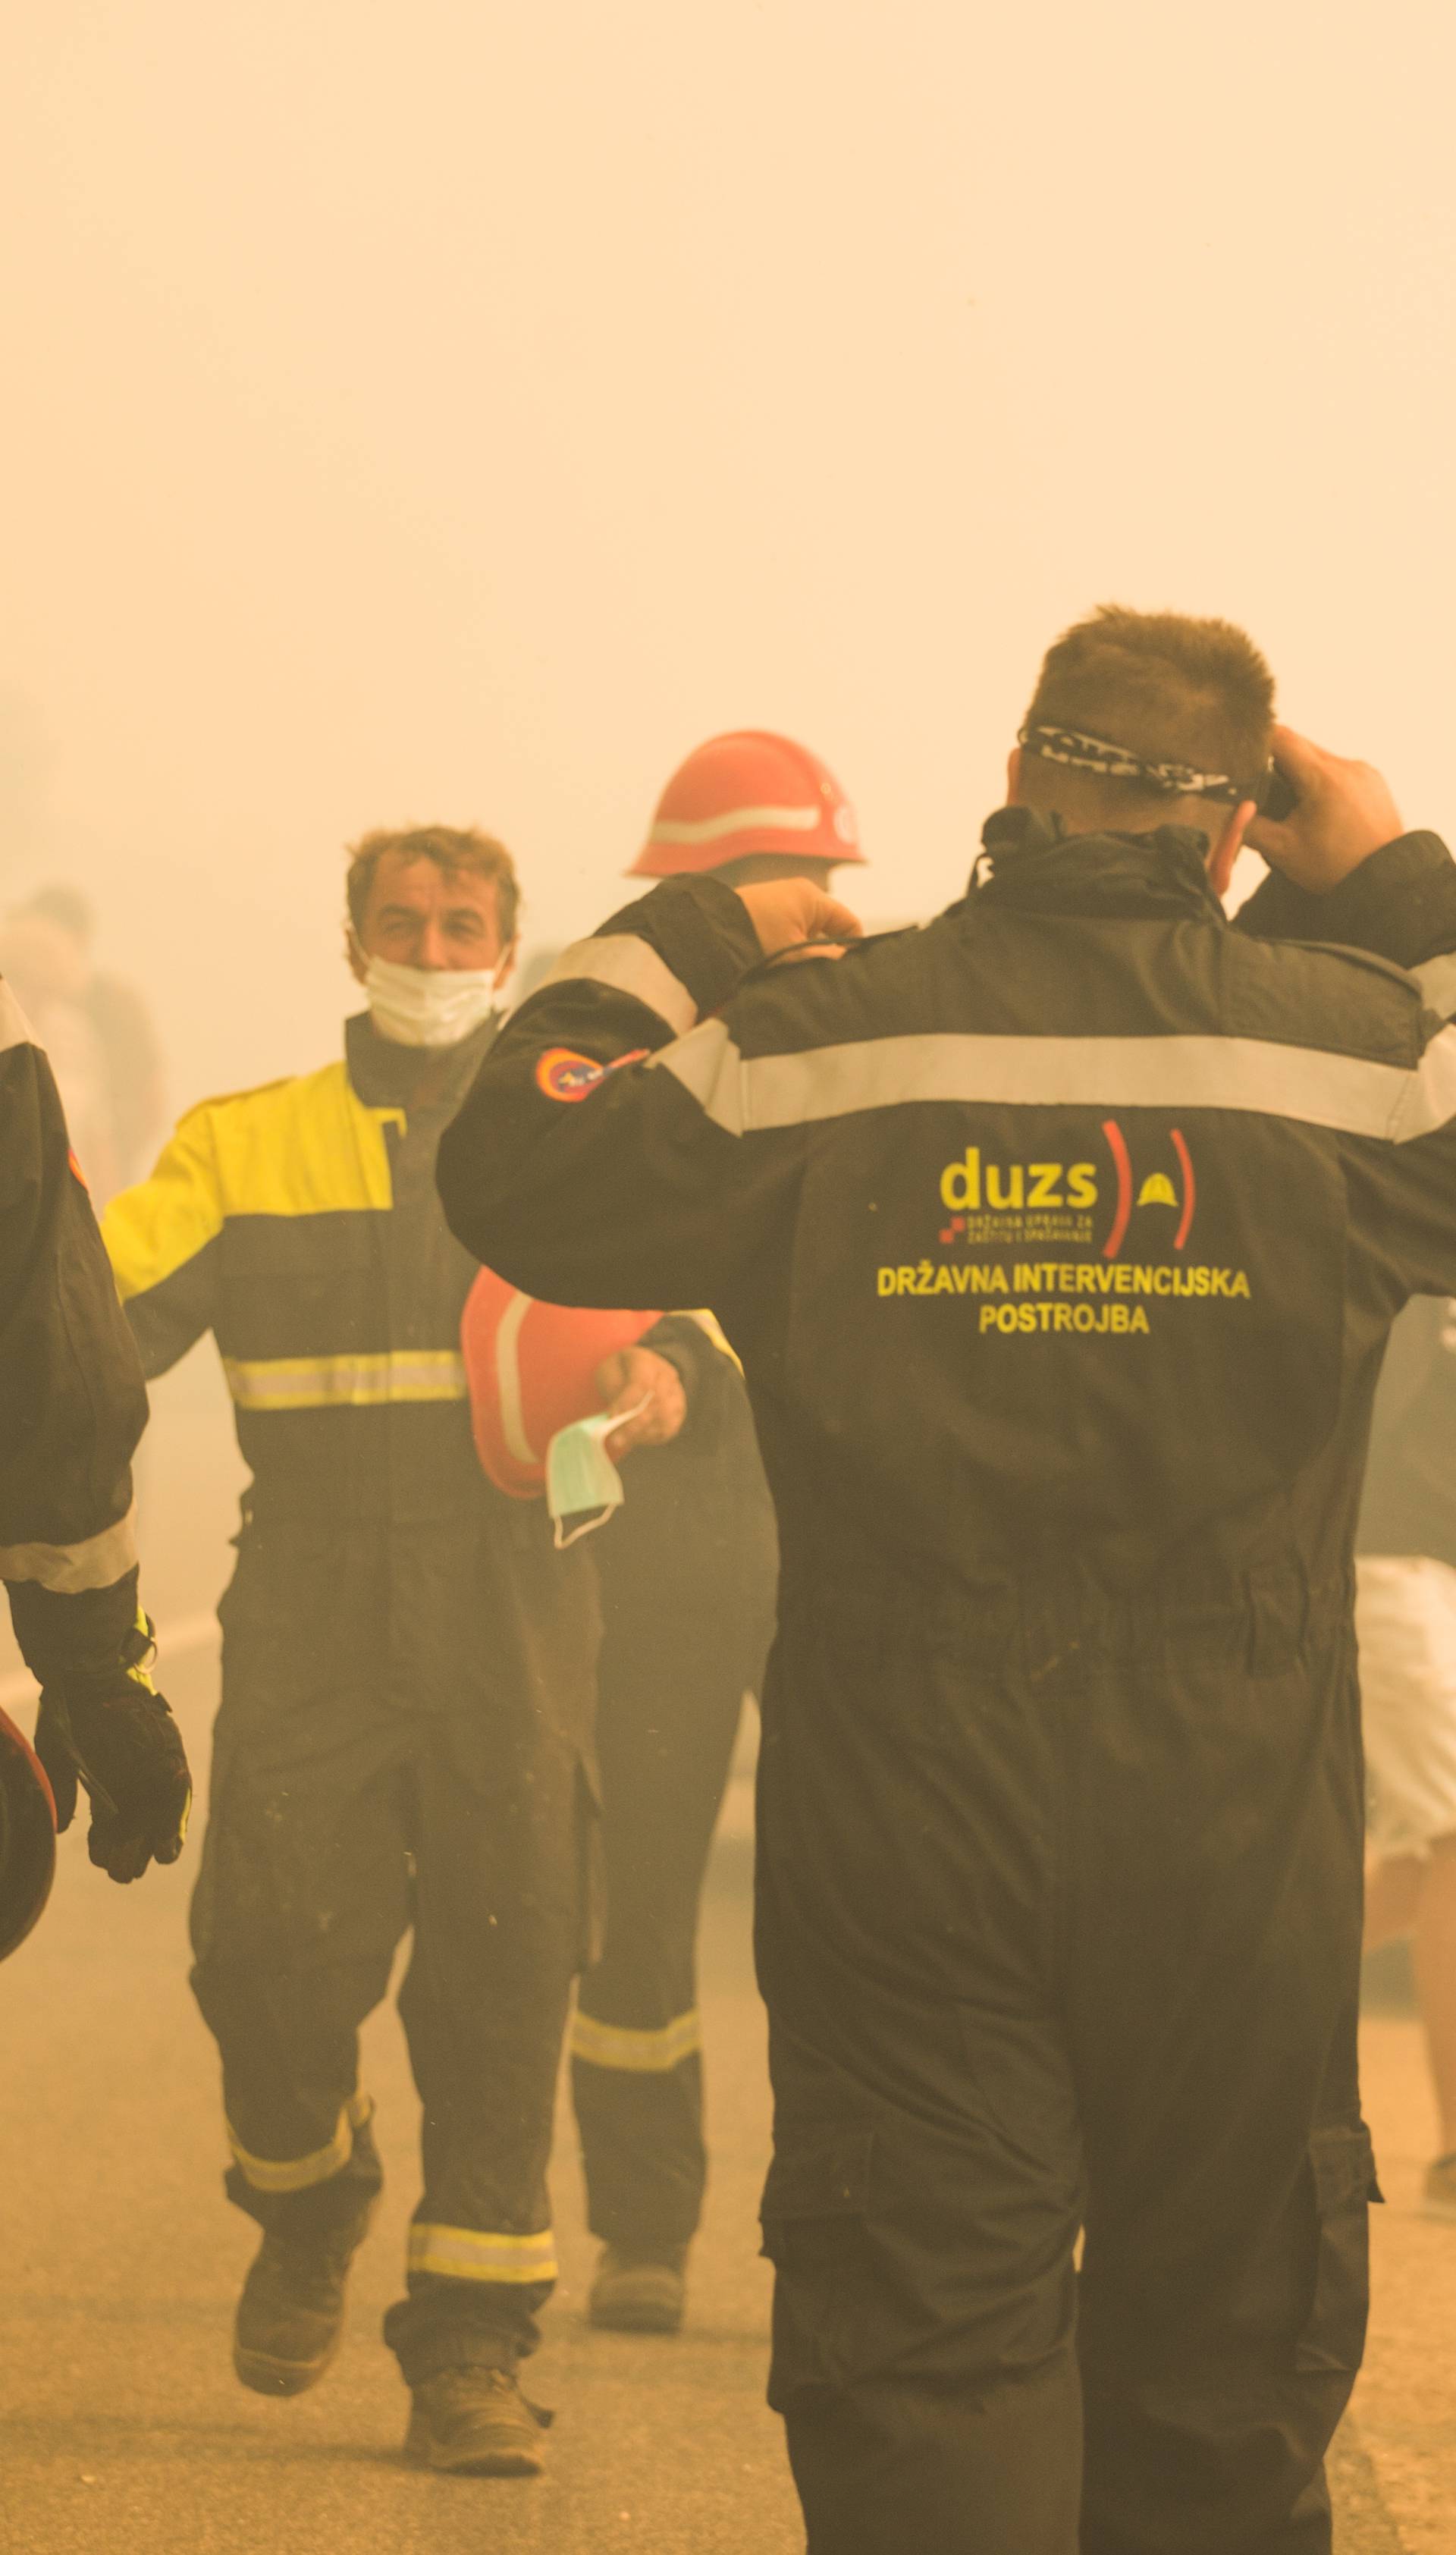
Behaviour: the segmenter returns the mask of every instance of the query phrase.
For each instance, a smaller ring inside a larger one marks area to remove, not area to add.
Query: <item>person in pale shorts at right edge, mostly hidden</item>
[[[1456,1009],[1428,984],[1441,1012]],[[1425,979],[1436,968],[1420,971]],[[1410,1934],[1441,2154],[1428,2218],[1456,2223],[1456,1300],[1390,1336],[1359,1513],[1356,1633],[1374,1817],[1364,1939]]]

